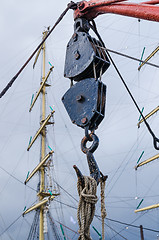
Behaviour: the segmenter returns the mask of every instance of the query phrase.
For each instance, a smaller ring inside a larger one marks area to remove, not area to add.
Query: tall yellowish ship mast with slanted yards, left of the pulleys
[[[49,33],[49,29],[47,31],[43,32],[43,39],[47,36]],[[53,194],[49,189],[46,189],[46,183],[45,183],[45,168],[47,167],[46,162],[53,154],[53,151],[51,150],[48,154],[46,154],[46,125],[54,124],[54,122],[49,121],[51,117],[54,114],[54,110],[51,111],[51,113],[46,116],[46,86],[48,85],[47,79],[50,75],[50,73],[53,70],[53,66],[50,68],[47,75],[45,74],[45,57],[46,57],[46,46],[45,42],[43,43],[42,47],[39,49],[37,56],[35,58],[35,62],[33,67],[35,66],[37,59],[39,57],[40,52],[42,51],[42,59],[43,59],[43,70],[42,70],[42,81],[40,83],[39,91],[37,92],[36,96],[34,97],[32,104],[30,106],[29,111],[31,112],[37,98],[41,94],[41,119],[40,119],[40,128],[36,132],[35,136],[33,137],[32,141],[30,141],[29,146],[27,150],[29,151],[35,140],[38,138],[39,135],[41,135],[41,156],[40,156],[40,162],[39,164],[34,168],[34,170],[27,176],[27,179],[25,180],[25,184],[34,176],[36,172],[39,172],[39,181],[40,181],[40,188],[39,192],[37,194],[39,198],[39,202],[35,204],[34,206],[28,208],[23,215],[29,213],[30,211],[39,209],[40,211],[40,217],[39,217],[39,240],[44,240],[44,221],[45,221],[45,206],[49,203],[49,201],[53,200],[54,197],[58,194]]]

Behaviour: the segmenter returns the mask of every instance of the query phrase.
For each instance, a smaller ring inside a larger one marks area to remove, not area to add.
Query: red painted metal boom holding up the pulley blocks
[[[138,19],[159,22],[159,0],[144,3],[120,3],[126,0],[91,0],[78,3],[74,11],[74,18],[86,18],[92,20],[100,14],[114,13]]]

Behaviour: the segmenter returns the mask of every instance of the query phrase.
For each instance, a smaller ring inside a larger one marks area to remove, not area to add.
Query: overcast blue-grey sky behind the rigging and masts
[[[67,6],[67,1],[3,1],[0,7],[0,90],[16,74],[21,65],[40,43],[42,32],[53,26],[59,15]],[[98,30],[110,49],[140,58],[145,47],[144,58],[159,43],[158,23],[141,21],[122,16],[103,15],[96,19]],[[88,175],[86,156],[80,150],[80,142],[84,131],[73,125],[61,102],[64,93],[69,89],[70,81],[63,77],[66,45],[73,34],[73,12],[69,11],[60,25],[47,40],[47,63],[54,65],[49,79],[52,87],[48,88],[47,114],[49,106],[55,109],[55,126],[48,127],[48,145],[55,151],[53,155],[54,178],[59,185],[78,200],[76,175],[72,166],[76,164],[83,174]],[[90,33],[92,34],[92,33]],[[145,66],[138,72],[139,63],[112,54],[121,74],[127,82],[144,114],[158,106],[159,102],[159,70]],[[151,60],[159,63],[157,53]],[[33,60],[18,77],[13,87],[0,100],[0,240],[27,239],[33,214],[20,217],[12,227],[1,234],[19,216],[24,207],[27,208],[36,200],[36,192],[24,186],[28,171],[39,162],[40,139],[27,152],[30,136],[34,136],[39,127],[40,100],[29,113],[32,94],[39,89],[41,77],[41,58],[35,70]],[[107,217],[121,222],[143,225],[147,228],[159,229],[158,210],[135,214],[134,210],[144,199],[141,207],[158,203],[159,174],[158,160],[142,167],[137,172],[134,166],[144,151],[142,160],[158,152],[153,148],[152,137],[146,127],[137,128],[139,114],[122,85],[113,66],[103,75],[107,85],[106,116],[96,131],[100,139],[95,159],[99,168],[108,175],[106,186]],[[159,116],[155,114],[149,123],[159,137]],[[8,173],[7,173],[7,172]],[[12,176],[15,178],[13,178]],[[38,176],[28,183],[36,189]],[[58,201],[77,207],[77,202],[62,189]],[[98,197],[100,193],[98,191]],[[56,208],[56,210],[55,210]],[[51,213],[55,220],[61,221],[74,231],[78,230],[76,210],[52,202]],[[96,214],[100,215],[100,201]],[[116,232],[131,240],[139,239],[139,229],[128,227],[106,220],[106,239],[122,239]],[[101,224],[94,219],[93,225],[101,232]],[[58,224],[59,227],[59,224]],[[65,230],[66,231],[66,230]],[[74,234],[67,231],[68,239]],[[91,229],[93,239],[96,233]],[[157,233],[145,231],[145,239],[157,239]],[[77,239],[77,235],[73,239]]]

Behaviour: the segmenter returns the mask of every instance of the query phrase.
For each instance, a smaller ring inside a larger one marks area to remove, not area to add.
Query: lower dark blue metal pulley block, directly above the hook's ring
[[[104,118],[106,85],[94,78],[87,78],[73,85],[62,101],[74,124],[93,130]]]

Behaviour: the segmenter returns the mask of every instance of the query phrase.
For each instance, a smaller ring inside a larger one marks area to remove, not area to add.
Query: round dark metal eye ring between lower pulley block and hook
[[[87,154],[87,152],[93,153],[99,145],[99,138],[97,137],[97,135],[91,133],[89,134],[89,138],[91,138],[91,141],[93,141],[92,145],[89,148],[86,147],[86,144],[90,140],[86,136],[81,141],[81,150],[85,154]]]

